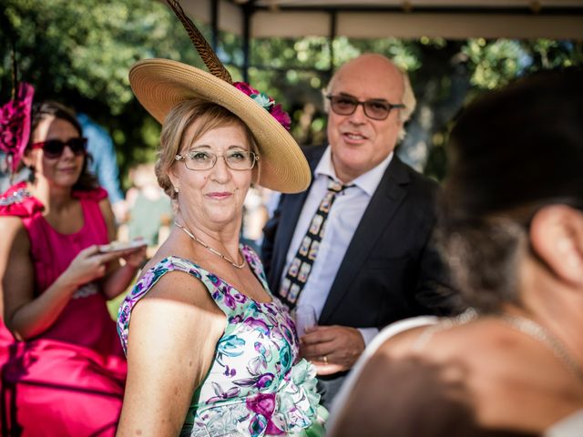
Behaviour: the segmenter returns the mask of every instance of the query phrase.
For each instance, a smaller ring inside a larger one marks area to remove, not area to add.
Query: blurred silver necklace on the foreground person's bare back
[[[527,334],[531,339],[537,340],[547,346],[547,348],[553,352],[553,355],[555,355],[557,360],[561,361],[561,363],[567,367],[568,371],[577,376],[579,380],[583,381],[583,367],[573,355],[569,353],[565,344],[563,344],[561,340],[558,340],[550,331],[543,328],[535,320],[530,320],[526,317],[503,313],[500,315],[500,318],[516,330]]]

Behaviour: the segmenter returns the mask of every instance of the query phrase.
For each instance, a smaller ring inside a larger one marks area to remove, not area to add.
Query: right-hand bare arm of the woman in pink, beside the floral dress
[[[99,202],[99,208],[106,221],[108,239],[109,241],[113,241],[117,238],[117,229],[109,200],[107,198],[101,200]],[[146,247],[118,253],[118,258],[122,257],[126,259],[126,264],[121,266],[119,259],[111,262],[108,267],[107,276],[102,283],[103,294],[108,300],[114,299],[128,289],[129,284],[136,277],[139,266],[146,258]]]

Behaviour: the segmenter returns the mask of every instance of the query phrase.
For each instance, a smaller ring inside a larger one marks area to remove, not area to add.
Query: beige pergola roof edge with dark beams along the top
[[[583,40],[583,0],[182,0],[187,14],[242,37],[243,74],[251,38],[438,36]],[[333,54],[332,54],[333,62]]]

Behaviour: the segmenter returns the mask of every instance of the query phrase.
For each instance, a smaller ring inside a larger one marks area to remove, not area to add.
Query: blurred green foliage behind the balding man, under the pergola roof
[[[449,122],[465,102],[518,76],[583,63],[580,42],[547,39],[337,37],[331,49],[326,38],[270,38],[253,43],[253,64],[261,68],[251,69],[251,80],[294,109],[293,134],[301,143],[320,143],[325,139],[321,89],[336,66],[365,52],[391,57],[411,76],[417,109],[398,153],[437,179],[445,176]]]

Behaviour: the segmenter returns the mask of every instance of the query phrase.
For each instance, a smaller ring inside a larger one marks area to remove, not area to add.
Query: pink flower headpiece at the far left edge
[[[21,83],[14,100],[0,108],[0,150],[11,158],[14,173],[25,153],[30,137],[30,112],[35,88]]]

